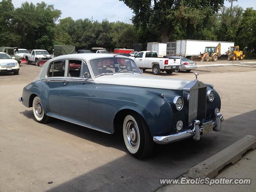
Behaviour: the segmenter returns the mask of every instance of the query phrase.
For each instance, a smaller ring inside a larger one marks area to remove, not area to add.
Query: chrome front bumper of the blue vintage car
[[[221,123],[224,121],[224,117],[220,113],[215,114],[215,119],[212,122],[213,130],[214,131],[220,131],[221,130]],[[199,120],[194,120],[194,127],[191,130],[186,130],[183,132],[178,132],[173,135],[167,135],[167,136],[153,136],[154,142],[158,144],[168,144],[171,142],[176,142],[179,140],[183,140],[186,138],[193,137],[194,140],[198,141],[200,140],[200,134],[203,132],[203,127],[200,126]]]

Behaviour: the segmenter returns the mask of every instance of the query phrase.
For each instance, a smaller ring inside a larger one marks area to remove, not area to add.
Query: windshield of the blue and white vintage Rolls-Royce
[[[123,72],[141,74],[134,61],[127,58],[99,58],[89,63],[95,77]]]

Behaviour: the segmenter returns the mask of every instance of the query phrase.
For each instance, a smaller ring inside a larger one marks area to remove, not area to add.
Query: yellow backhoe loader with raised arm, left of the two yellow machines
[[[219,43],[216,47],[205,47],[204,53],[200,53],[198,57],[192,57],[192,61],[217,61],[218,57],[221,56],[221,44]]]

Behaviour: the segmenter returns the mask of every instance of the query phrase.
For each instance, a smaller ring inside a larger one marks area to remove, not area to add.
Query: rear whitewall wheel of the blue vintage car
[[[39,123],[47,123],[50,120],[50,117],[44,114],[44,108],[39,97],[34,98],[32,106],[34,116]]]

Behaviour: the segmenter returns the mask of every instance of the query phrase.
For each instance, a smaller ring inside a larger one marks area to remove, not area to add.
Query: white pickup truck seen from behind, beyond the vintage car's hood
[[[152,69],[155,75],[159,75],[161,71],[172,74],[175,69],[179,69],[181,62],[179,58],[158,57],[155,51],[142,51],[132,58],[140,69]]]

